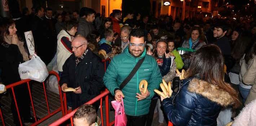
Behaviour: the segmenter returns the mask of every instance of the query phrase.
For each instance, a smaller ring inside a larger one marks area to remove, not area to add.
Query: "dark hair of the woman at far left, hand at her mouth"
[[[12,26],[13,24],[15,23],[11,18],[0,19],[0,44],[5,42],[4,36],[10,35],[9,27]]]

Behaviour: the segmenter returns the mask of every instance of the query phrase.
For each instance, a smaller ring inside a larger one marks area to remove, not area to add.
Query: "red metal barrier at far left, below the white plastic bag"
[[[57,77],[57,80],[58,80],[58,85],[59,85],[59,75],[58,73],[54,72],[54,71],[50,71],[49,72],[49,75],[54,75]],[[61,101],[61,106],[56,109],[55,111],[53,112],[50,112],[50,109],[49,109],[49,103],[48,103],[48,98],[47,98],[47,94],[46,94],[46,89],[45,89],[45,84],[43,82],[43,89],[44,89],[44,95],[45,95],[45,101],[46,101],[46,104],[47,104],[47,111],[48,111],[48,115],[41,118],[39,121],[37,121],[37,118],[36,118],[36,112],[35,112],[35,108],[34,108],[34,102],[33,102],[33,99],[32,99],[32,95],[31,95],[31,89],[30,89],[30,82],[31,80],[30,79],[26,79],[26,80],[22,80],[22,81],[18,81],[16,83],[13,83],[13,84],[10,84],[10,85],[7,85],[6,86],[6,89],[11,89],[12,90],[12,94],[13,94],[13,98],[14,98],[14,102],[15,102],[15,106],[16,106],[16,109],[17,109],[17,113],[18,113],[18,118],[19,118],[19,122],[20,122],[20,125],[22,126],[22,122],[21,122],[21,116],[20,116],[20,113],[19,113],[19,108],[18,108],[18,105],[17,105],[17,100],[16,100],[16,95],[15,95],[15,92],[14,92],[14,87],[15,86],[18,86],[18,85],[22,85],[22,84],[25,84],[27,83],[27,87],[28,87],[28,92],[29,92],[29,96],[30,96],[30,101],[31,101],[31,106],[32,106],[32,111],[33,111],[33,114],[35,116],[35,123],[33,123],[31,126],[36,126],[38,125],[39,123],[47,120],[48,118],[50,118],[51,116],[53,116],[54,114],[62,111],[62,115],[64,116],[65,115],[65,109],[64,109],[64,105],[63,105],[63,102],[62,102],[62,93],[61,93],[61,87],[58,86],[59,88],[59,99]],[[66,99],[66,98],[64,98]],[[0,117],[1,117],[1,120],[3,122],[3,126],[5,126],[5,122],[4,122],[4,118],[3,118],[3,114],[0,110]]]

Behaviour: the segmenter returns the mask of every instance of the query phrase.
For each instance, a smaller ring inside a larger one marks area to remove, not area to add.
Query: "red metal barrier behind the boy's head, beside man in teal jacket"
[[[115,122],[109,122],[109,91],[106,89],[105,91],[103,91],[100,95],[96,96],[95,98],[93,98],[92,100],[90,100],[89,102],[85,103],[85,104],[93,104],[94,102],[98,101],[98,100],[102,100],[103,97],[105,97],[105,107],[106,107],[106,125],[107,126],[111,126],[113,125]],[[102,109],[102,104],[101,104],[101,109]],[[62,118],[58,119],[57,121],[53,122],[52,124],[50,124],[49,126],[58,126],[61,125],[63,122],[67,121],[67,120],[71,120],[72,121],[72,117],[74,115],[74,113],[76,112],[78,108],[76,108],[75,110],[73,110],[72,112],[66,114],[65,116],[63,116]],[[103,114],[101,114],[101,116],[103,116]],[[102,122],[102,126],[103,126],[103,120]],[[71,126],[73,126],[73,123],[71,123]]]

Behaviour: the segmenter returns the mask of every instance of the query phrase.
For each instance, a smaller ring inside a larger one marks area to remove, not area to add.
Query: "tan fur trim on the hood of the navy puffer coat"
[[[234,104],[234,99],[228,92],[203,80],[193,79],[189,83],[187,90],[191,93],[200,94],[223,107]]]

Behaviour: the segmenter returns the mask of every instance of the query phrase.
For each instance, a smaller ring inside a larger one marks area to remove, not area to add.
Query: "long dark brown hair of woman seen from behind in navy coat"
[[[235,101],[233,108],[239,107],[238,93],[229,84],[224,82],[224,59],[217,45],[204,45],[193,54],[185,77],[194,76],[199,76],[201,80],[219,86],[220,89],[228,92]]]

